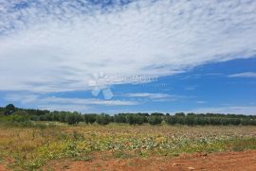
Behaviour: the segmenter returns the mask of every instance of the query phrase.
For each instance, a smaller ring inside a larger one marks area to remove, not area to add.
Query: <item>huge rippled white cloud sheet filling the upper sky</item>
[[[0,90],[88,90],[98,72],[166,76],[256,54],[256,1],[136,1],[102,11],[40,0],[11,9],[19,2],[0,0]]]

